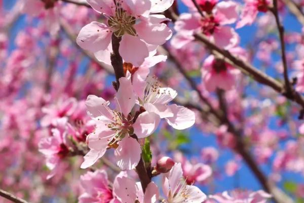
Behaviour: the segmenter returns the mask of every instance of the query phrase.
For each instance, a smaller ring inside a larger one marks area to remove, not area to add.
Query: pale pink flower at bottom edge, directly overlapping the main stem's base
[[[155,203],[159,201],[158,187],[154,182],[150,182],[143,193],[140,182],[128,178],[125,172],[121,172],[115,178],[113,192],[121,202],[125,203]]]

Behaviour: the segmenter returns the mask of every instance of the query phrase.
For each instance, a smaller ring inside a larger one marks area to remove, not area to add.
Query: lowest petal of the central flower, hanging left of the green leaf
[[[114,153],[117,165],[122,170],[134,169],[141,157],[141,148],[139,143],[134,138],[126,137],[118,144],[119,147]]]

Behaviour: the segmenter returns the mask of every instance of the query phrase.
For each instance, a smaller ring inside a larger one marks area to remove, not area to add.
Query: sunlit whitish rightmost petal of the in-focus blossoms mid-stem
[[[170,105],[174,116],[165,118],[169,125],[175,129],[182,130],[193,126],[195,123],[195,113],[185,107]]]

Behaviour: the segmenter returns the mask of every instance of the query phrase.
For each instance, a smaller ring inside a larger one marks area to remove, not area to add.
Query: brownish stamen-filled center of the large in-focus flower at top
[[[122,37],[125,33],[136,36],[136,30],[133,27],[135,22],[136,18],[122,8],[117,8],[115,16],[109,16],[107,21],[108,25],[113,28],[116,37]]]

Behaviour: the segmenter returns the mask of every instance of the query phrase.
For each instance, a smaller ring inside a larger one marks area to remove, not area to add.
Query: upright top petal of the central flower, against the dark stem
[[[120,78],[119,83],[120,86],[117,91],[116,98],[119,110],[125,115],[125,117],[127,117],[135,105],[133,86],[131,80],[128,80],[125,77]]]

